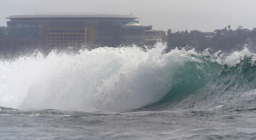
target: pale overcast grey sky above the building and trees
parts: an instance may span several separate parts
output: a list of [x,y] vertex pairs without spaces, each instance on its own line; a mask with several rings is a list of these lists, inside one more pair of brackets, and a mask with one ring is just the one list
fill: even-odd
[[256,0],[0,0],[0,26],[9,15],[35,13],[133,13],[142,25],[175,32],[256,27]]

